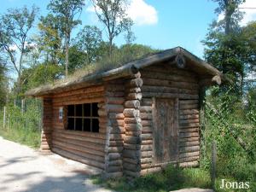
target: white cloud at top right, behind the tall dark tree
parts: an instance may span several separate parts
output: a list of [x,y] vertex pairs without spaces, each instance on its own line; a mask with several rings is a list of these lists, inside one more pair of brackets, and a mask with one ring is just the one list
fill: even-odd
[[[242,3],[240,8],[256,8],[255,0],[247,0],[245,3]],[[247,25],[248,22],[256,20],[256,9],[240,9],[244,12],[243,19],[241,20],[241,26]],[[218,15],[218,21],[224,19],[224,13]]]

